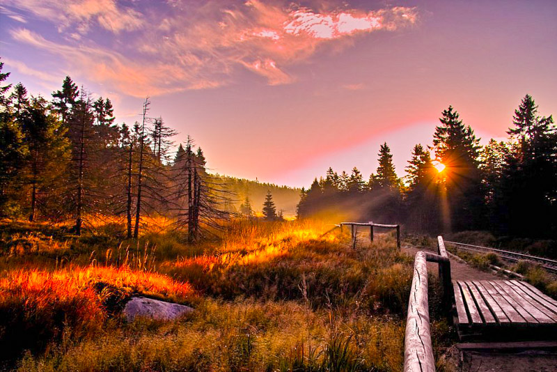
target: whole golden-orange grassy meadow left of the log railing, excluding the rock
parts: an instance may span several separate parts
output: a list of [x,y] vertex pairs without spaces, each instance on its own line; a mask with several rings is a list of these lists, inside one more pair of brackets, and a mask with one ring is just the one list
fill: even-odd
[[[352,248],[317,222],[230,222],[187,245],[157,222],[1,222],[0,360],[19,371],[400,371],[413,258],[393,235]],[[167,226],[167,225],[166,225]],[[430,301],[434,334],[446,322]],[[132,295],[188,304],[126,323]]]

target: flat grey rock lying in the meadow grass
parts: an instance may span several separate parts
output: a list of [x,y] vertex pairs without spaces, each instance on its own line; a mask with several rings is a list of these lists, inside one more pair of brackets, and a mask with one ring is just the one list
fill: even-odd
[[126,320],[132,322],[138,316],[157,320],[173,320],[191,311],[194,309],[173,302],[153,300],[147,297],[132,297],[124,307],[123,313]]

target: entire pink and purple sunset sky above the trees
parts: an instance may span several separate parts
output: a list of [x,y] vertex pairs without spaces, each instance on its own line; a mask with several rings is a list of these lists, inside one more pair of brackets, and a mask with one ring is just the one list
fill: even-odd
[[2,0],[8,82],[45,97],[66,75],[118,123],[162,116],[214,172],[311,185],[399,176],[453,105],[483,143],[529,93],[557,115],[557,1]]

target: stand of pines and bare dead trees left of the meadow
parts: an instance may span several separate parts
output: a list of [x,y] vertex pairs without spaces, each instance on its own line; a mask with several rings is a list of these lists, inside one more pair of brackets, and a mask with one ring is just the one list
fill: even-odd
[[229,192],[205,171],[201,148],[188,139],[173,157],[175,131],[149,116],[148,99],[129,127],[70,77],[50,101],[10,88],[0,85],[0,217],[72,220],[77,235],[116,217],[128,238],[146,217],[173,217],[190,241],[228,217]]

